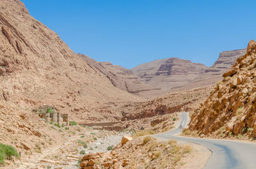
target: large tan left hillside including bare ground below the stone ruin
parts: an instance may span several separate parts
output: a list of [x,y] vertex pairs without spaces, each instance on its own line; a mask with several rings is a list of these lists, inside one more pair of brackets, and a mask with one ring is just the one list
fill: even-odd
[[[69,120],[116,121],[109,101],[139,97],[114,87],[17,0],[0,1],[0,142],[30,155],[65,142],[31,110],[52,105]],[[72,132],[72,131],[70,131]],[[38,143],[44,143],[38,148]],[[37,149],[38,148],[38,149]]]

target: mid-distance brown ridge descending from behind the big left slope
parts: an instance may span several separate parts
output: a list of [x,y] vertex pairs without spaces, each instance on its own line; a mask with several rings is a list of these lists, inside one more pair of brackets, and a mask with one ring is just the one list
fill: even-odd
[[119,89],[140,95],[140,92],[159,90],[145,83],[141,77],[134,75],[131,70],[127,70],[122,66],[113,65],[111,62],[97,62],[87,55],[78,54],[82,57],[93,70],[103,73],[109,81]]

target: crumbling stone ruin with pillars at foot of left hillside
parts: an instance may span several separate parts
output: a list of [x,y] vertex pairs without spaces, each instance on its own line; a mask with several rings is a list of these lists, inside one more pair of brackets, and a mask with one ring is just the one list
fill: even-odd
[[55,107],[44,105],[36,109],[35,112],[46,122],[58,123],[60,126],[68,126],[68,114],[57,112]]

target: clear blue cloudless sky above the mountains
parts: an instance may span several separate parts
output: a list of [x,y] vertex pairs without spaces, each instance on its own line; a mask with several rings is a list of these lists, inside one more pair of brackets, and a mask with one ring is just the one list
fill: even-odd
[[211,66],[256,33],[253,0],[22,1],[74,52],[125,68],[167,57]]

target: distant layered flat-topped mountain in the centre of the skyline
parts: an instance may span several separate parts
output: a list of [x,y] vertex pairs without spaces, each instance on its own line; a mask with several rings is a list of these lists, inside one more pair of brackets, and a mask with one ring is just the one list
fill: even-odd
[[206,69],[204,64],[172,57],[140,64],[132,68],[132,72],[143,78],[147,84],[168,91],[188,84]]

